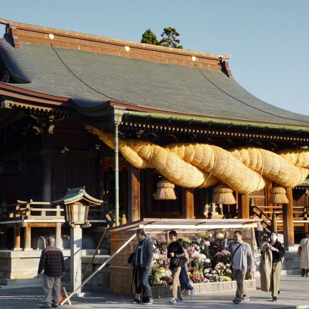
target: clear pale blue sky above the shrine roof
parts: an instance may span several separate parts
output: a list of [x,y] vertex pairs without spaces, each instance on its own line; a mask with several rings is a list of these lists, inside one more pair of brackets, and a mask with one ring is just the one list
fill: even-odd
[[[231,54],[235,80],[259,99],[309,115],[308,0],[14,0],[1,18],[140,42],[151,28],[185,49]],[[0,30],[4,33],[4,27]]]

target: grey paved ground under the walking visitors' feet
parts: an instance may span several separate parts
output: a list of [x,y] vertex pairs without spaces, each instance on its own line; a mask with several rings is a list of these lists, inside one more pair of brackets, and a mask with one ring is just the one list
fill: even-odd
[[[259,290],[259,282],[256,283],[257,290],[250,291],[251,300],[246,303],[236,305],[232,303],[234,293],[215,293],[197,295],[194,298],[189,296],[183,302],[170,304],[169,298],[156,298],[152,305],[133,305],[131,298],[124,296],[114,296],[109,293],[99,293],[92,290],[89,296],[82,298],[72,297],[72,307],[76,309],[91,308],[241,308],[260,309],[260,308],[309,308],[309,277],[282,276],[281,293],[276,303],[272,303],[271,293],[264,293]],[[88,294],[86,294],[88,295]],[[41,287],[18,287],[0,288],[0,308],[1,309],[30,309],[38,308],[41,301]],[[64,306],[63,308],[66,308]],[[67,307],[68,308],[68,307]]]

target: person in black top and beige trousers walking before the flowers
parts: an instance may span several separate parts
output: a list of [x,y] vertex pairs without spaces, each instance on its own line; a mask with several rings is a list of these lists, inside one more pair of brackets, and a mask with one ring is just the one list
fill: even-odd
[[177,240],[177,232],[170,231],[168,233],[170,244],[168,245],[168,259],[170,259],[170,271],[173,277],[173,297],[170,298],[170,303],[176,303],[183,300],[180,289],[180,272],[185,265],[185,251],[183,246]]

